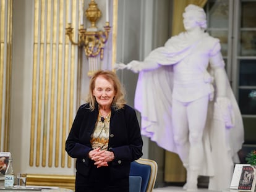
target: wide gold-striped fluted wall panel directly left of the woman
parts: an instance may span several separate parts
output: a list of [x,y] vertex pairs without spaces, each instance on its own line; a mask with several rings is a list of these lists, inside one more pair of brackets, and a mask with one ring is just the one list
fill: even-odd
[[65,20],[76,3],[35,0],[30,166],[71,167],[65,141],[77,110],[78,62]]

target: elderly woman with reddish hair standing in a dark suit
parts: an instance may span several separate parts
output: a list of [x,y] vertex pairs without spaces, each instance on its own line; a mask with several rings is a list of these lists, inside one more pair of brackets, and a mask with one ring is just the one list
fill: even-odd
[[90,80],[66,140],[77,158],[75,191],[129,192],[130,162],[142,156],[140,127],[116,73],[100,70]]

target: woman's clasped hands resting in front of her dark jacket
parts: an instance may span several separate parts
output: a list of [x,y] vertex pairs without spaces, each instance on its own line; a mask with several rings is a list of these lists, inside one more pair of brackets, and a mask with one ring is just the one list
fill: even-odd
[[101,150],[101,148],[93,149],[88,154],[89,158],[95,161],[97,168],[108,166],[108,162],[113,161],[114,152]]

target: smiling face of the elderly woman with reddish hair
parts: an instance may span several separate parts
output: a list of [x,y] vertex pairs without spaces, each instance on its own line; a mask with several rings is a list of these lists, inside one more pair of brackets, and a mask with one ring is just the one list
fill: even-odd
[[106,80],[101,75],[96,78],[93,96],[95,96],[100,107],[110,108],[115,94],[116,91],[112,81]]

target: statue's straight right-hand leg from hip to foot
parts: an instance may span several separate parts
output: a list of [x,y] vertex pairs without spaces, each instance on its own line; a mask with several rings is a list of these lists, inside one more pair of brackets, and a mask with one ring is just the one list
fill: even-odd
[[189,169],[187,190],[197,190],[197,178],[203,161],[203,129],[207,119],[208,96],[197,99],[187,106],[189,120]]

